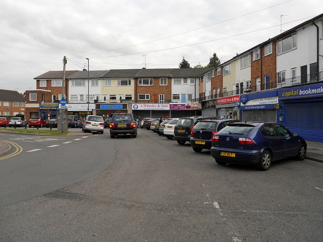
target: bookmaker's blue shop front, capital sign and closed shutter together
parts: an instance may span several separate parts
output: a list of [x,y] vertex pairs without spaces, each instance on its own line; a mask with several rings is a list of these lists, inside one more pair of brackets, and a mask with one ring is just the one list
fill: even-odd
[[280,123],[309,141],[323,142],[323,83],[278,90]]

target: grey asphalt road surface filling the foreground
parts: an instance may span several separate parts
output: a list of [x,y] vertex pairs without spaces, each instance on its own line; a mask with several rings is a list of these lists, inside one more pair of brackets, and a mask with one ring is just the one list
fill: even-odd
[[[209,151],[195,153],[188,143],[181,146],[148,130],[139,130],[135,139],[110,139],[109,132],[82,138],[66,144],[59,157],[55,149],[63,147],[48,147],[56,142],[42,142],[38,154],[29,152],[33,159],[26,159],[26,151],[36,145],[17,143],[23,151],[0,160],[1,176],[45,172],[44,180],[54,175],[53,186],[42,196],[0,207],[0,241],[294,242],[323,237],[323,163],[288,159],[268,171],[221,166]],[[73,155],[70,163],[56,163]],[[4,166],[9,166],[5,172]],[[74,179],[62,184],[71,172]],[[14,180],[1,178],[1,184]],[[33,189],[36,184],[28,192]]]

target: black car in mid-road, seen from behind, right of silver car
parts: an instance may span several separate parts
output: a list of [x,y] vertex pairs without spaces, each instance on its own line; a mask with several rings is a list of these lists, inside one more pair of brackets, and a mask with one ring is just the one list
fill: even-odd
[[137,137],[137,125],[132,113],[114,113],[110,123],[110,137],[117,135],[130,134],[133,138]]

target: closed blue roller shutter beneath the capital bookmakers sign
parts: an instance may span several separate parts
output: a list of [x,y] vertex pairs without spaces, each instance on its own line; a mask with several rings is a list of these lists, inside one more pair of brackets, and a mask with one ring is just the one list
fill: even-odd
[[285,126],[306,140],[323,142],[323,102],[285,103]]

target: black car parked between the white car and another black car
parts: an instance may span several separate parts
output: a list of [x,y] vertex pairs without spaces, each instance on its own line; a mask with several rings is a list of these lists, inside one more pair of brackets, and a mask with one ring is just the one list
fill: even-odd
[[189,142],[194,125],[196,125],[201,120],[210,118],[216,119],[216,117],[213,116],[181,117],[180,119],[178,119],[174,129],[174,140],[176,140],[180,145],[184,145],[186,141]]

